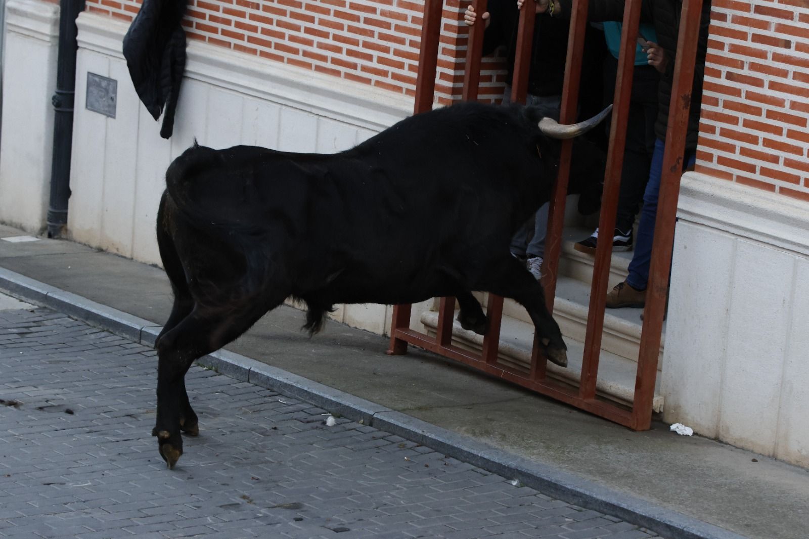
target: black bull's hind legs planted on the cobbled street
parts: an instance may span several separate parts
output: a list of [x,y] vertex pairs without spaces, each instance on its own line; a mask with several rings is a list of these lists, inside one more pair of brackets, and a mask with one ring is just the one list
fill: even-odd
[[[185,373],[193,361],[233,341],[281,301],[267,306],[260,298],[228,305],[227,308],[194,308],[184,320],[167,331],[156,345],[158,350],[157,420],[152,435],[157,436],[160,456],[174,468],[183,454],[180,430],[197,431],[196,418],[185,392]],[[188,413],[190,410],[190,416]],[[193,424],[189,420],[193,417]]]

